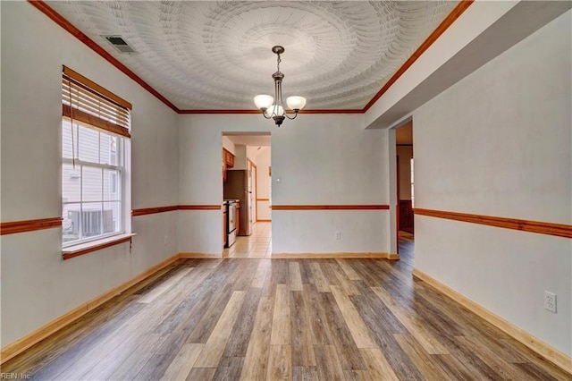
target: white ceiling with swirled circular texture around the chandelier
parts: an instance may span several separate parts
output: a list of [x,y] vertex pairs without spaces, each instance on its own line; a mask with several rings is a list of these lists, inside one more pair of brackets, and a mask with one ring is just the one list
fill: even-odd
[[[180,109],[254,109],[273,95],[307,109],[361,109],[452,11],[450,1],[47,2]],[[120,35],[121,54],[102,36]]]

